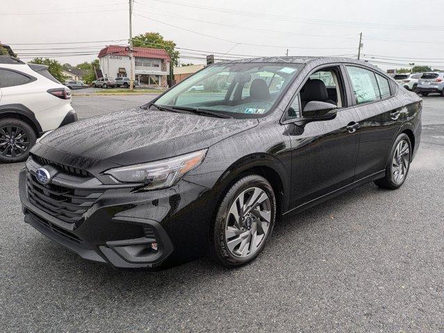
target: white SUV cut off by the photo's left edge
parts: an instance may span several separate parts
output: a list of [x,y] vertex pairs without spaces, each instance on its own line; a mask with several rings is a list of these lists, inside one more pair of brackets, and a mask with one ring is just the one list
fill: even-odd
[[0,162],[26,160],[38,137],[76,120],[71,91],[47,66],[0,56]]

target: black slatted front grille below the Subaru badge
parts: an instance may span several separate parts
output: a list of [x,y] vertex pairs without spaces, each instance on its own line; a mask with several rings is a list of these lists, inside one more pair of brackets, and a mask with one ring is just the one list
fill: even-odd
[[97,189],[73,189],[55,184],[42,185],[28,172],[26,185],[29,201],[57,219],[68,223],[79,221],[101,196]]

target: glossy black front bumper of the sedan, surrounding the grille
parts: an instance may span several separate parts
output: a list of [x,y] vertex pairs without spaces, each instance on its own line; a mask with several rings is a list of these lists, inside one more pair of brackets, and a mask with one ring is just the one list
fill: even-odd
[[[174,189],[140,193],[130,188],[107,189],[78,222],[67,223],[35,203],[33,192],[28,192],[28,176],[38,165],[28,161],[27,167],[30,170],[25,168],[19,175],[24,221],[84,259],[117,268],[157,268],[195,257],[196,244],[202,248],[204,219],[190,209],[200,201],[202,187],[198,185],[179,182]],[[66,185],[68,179],[56,177],[52,182]],[[151,248],[154,243],[157,250]]]

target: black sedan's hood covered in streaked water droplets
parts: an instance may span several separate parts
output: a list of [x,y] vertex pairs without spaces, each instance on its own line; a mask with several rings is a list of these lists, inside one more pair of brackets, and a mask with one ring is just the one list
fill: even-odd
[[[208,148],[257,124],[257,119],[221,119],[132,108],[70,123],[45,136],[36,146],[129,165]],[[42,151],[41,148],[35,150]]]

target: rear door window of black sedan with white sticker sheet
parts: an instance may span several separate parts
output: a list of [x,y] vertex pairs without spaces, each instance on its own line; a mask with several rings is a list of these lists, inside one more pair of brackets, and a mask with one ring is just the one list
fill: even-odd
[[357,104],[381,99],[375,74],[361,67],[347,66]]

